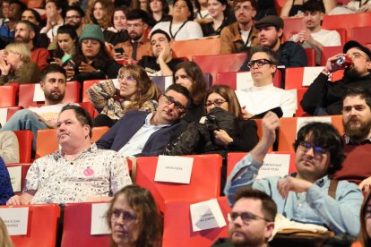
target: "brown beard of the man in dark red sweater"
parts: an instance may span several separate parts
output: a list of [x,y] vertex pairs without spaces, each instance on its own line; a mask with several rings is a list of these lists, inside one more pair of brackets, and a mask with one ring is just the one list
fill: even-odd
[[362,121],[357,116],[351,117],[347,123],[343,121],[342,124],[345,134],[355,141],[366,139],[371,130],[371,121]]

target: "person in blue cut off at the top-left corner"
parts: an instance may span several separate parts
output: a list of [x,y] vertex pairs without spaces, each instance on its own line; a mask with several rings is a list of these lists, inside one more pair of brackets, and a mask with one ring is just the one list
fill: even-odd
[[0,26],[0,49],[4,49],[8,44],[14,41],[14,29],[18,21],[21,21],[23,10],[27,8],[19,0],[10,1],[8,20]]

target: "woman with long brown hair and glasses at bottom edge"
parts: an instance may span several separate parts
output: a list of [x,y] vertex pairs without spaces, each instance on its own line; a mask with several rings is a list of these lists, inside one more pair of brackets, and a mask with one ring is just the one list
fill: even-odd
[[161,246],[159,219],[151,192],[135,185],[126,186],[116,192],[108,208],[110,246]]

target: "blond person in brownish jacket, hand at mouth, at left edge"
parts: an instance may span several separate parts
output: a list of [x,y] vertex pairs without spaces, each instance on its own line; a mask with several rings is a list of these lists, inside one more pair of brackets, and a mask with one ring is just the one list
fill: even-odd
[[0,57],[0,85],[27,84],[40,80],[38,65],[30,62],[30,48],[23,43],[11,43]]

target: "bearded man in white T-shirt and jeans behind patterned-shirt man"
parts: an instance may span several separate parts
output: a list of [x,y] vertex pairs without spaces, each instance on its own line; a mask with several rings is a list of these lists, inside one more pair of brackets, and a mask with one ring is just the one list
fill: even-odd
[[17,111],[1,131],[30,130],[33,133],[32,150],[36,150],[38,130],[56,128],[56,120],[65,98],[65,69],[57,64],[48,65],[42,72],[40,88],[44,91],[45,105]]

